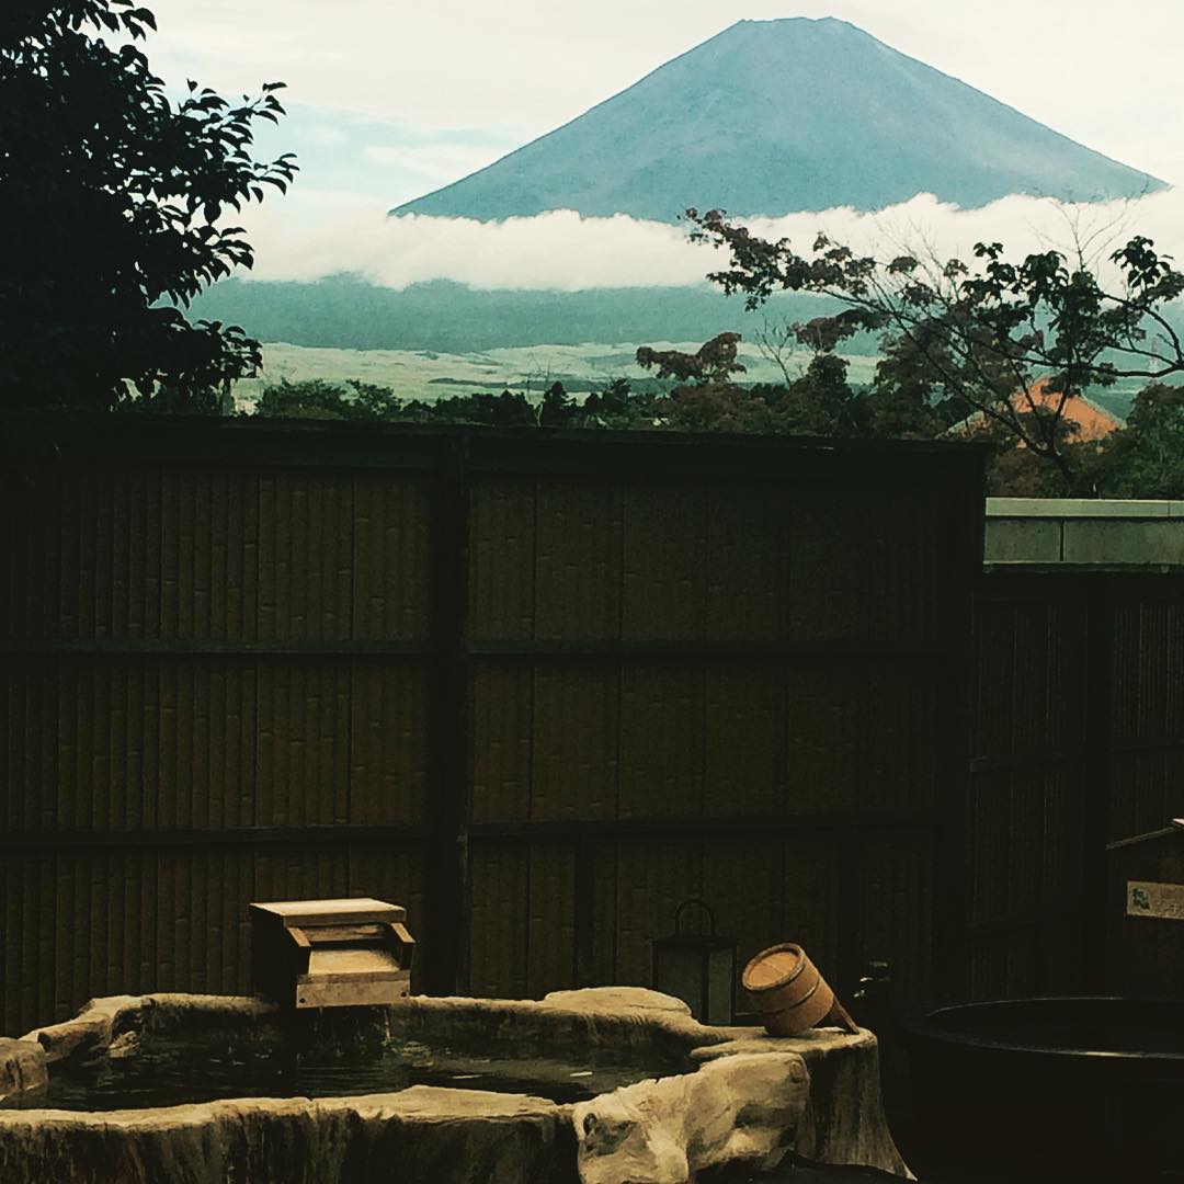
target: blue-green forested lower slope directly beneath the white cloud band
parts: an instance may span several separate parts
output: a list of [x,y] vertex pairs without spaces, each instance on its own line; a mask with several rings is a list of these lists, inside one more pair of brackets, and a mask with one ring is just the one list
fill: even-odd
[[[701,288],[538,291],[469,288],[446,279],[380,288],[342,275],[315,283],[226,279],[201,292],[194,317],[240,324],[259,341],[337,349],[431,349],[449,354],[584,342],[707,341],[734,329],[757,341],[766,322],[834,313],[824,297],[783,295],[749,313],[740,297]],[[863,335],[844,353],[875,354]]]

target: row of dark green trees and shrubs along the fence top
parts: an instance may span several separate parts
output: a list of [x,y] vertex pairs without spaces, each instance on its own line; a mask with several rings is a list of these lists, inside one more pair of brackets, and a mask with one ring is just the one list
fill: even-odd
[[[694,371],[663,352],[671,373]],[[684,432],[757,432],[866,439],[933,439],[986,443],[987,493],[1012,497],[1184,498],[1184,388],[1152,385],[1135,399],[1124,430],[1103,440],[1080,440],[1068,419],[1057,446],[1070,461],[1070,478],[1034,450],[1017,444],[997,420],[978,417],[965,426],[959,400],[934,401],[907,361],[889,354],[867,388],[851,387],[847,363],[818,354],[784,384],[738,386],[721,380],[677,384],[655,394],[613,379],[583,401],[553,382],[541,401],[521,392],[463,394],[435,401],[401,399],[388,387],[318,379],[269,385],[252,414],[266,418],[336,419],[356,424],[477,424],[490,427],[616,429]],[[950,435],[951,425],[963,425]],[[1031,429],[1035,431],[1035,429]]]

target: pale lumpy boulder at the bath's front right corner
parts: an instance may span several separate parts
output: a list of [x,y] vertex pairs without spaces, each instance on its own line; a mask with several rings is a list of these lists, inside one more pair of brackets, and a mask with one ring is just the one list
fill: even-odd
[[773,1167],[796,1144],[807,1077],[793,1053],[740,1054],[580,1102],[580,1180],[687,1184],[721,1164]]

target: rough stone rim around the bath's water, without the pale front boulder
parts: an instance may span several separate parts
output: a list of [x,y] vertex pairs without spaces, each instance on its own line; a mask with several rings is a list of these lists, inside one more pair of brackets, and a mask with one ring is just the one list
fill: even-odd
[[[496,1034],[501,1040],[547,1038],[597,1040],[633,1053],[652,1053],[667,1064],[682,1062],[674,1072],[659,1072],[642,1086],[671,1076],[701,1072],[723,1058],[754,1054],[786,1054],[800,1057],[809,1074],[804,1112],[792,1132],[799,1154],[829,1163],[867,1163],[908,1177],[883,1118],[879,1090],[877,1044],[871,1032],[847,1034],[813,1029],[798,1037],[770,1037],[759,1028],[712,1028],[690,1017],[681,1000],[639,987],[593,987],[555,992],[541,1000],[474,999],[465,997],[411,996],[385,1009],[391,1022],[405,1030],[438,1025],[442,1021],[475,1038]],[[128,1034],[161,1025],[217,1021],[239,1025],[278,1022],[281,1009],[263,999],[236,996],[155,993],[111,996],[91,1000],[72,1019],[27,1032],[19,1041],[24,1062],[38,1061],[52,1072],[54,1063],[75,1056],[92,1056],[118,1047]],[[30,1056],[30,1053],[32,1055]],[[740,1062],[735,1062],[739,1064]],[[0,1067],[4,1054],[0,1051]],[[826,1072],[816,1069],[826,1064]],[[28,1076],[36,1082],[37,1073]],[[44,1077],[41,1080],[44,1087]],[[33,1089],[38,1088],[34,1083]],[[637,1086],[624,1087],[637,1090]],[[614,1093],[619,1093],[616,1090]],[[452,1096],[455,1095],[455,1096]],[[607,1095],[601,1094],[599,1098]],[[593,1099],[596,1101],[597,1099]],[[580,1103],[586,1105],[586,1103]],[[52,1111],[24,1108],[0,1112],[0,1163],[5,1145],[18,1132],[37,1139],[57,1131],[85,1132],[108,1138],[118,1131],[149,1128],[193,1131],[202,1124],[251,1124],[289,1119],[302,1124],[324,1122],[366,1127],[368,1124],[443,1122],[465,1113],[477,1121],[517,1124],[530,1139],[573,1143],[577,1134],[573,1109],[528,1094],[455,1090],[440,1086],[412,1086],[392,1093],[352,1094],[341,1098],[234,1098],[191,1102],[153,1109]],[[521,1133],[521,1132],[520,1132]],[[790,1144],[783,1148],[787,1150]]]

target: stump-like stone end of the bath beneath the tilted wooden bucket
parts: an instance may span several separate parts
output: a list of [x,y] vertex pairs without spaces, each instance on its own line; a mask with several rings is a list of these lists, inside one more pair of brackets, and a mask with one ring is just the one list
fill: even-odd
[[811,1028],[800,1036],[768,1036],[762,1028],[733,1028],[733,1038],[704,1045],[691,1060],[794,1053],[810,1070],[810,1099],[794,1151],[826,1164],[864,1164],[912,1179],[888,1128],[880,1093],[880,1048],[866,1029]]

